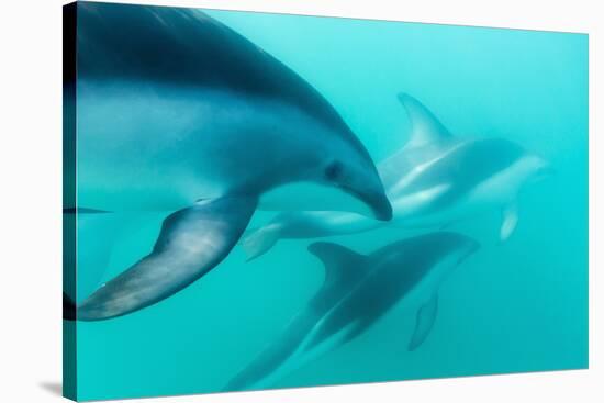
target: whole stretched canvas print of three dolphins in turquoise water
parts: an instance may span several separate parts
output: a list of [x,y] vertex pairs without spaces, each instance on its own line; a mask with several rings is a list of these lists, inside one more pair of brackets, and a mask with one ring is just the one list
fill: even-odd
[[588,367],[588,35],[64,8],[64,393]]

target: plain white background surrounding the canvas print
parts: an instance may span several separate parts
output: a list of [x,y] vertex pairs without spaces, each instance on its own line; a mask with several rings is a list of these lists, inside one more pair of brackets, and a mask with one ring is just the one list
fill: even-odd
[[[141,2],[590,33],[590,370],[166,398],[157,402],[602,401],[602,396],[596,398],[604,382],[599,295],[604,290],[601,281],[604,277],[599,273],[603,269],[599,250],[603,247],[603,214],[597,209],[604,205],[600,187],[603,91],[599,75],[603,69],[604,13],[599,10],[599,1]],[[4,1],[0,14],[0,402],[63,399],[61,3],[60,0]],[[551,217],[551,231],[556,231],[556,217]],[[199,366],[202,371],[204,363]]]

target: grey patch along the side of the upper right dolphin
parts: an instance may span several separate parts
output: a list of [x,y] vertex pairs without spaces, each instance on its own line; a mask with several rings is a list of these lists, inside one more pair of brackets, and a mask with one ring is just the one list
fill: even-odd
[[510,167],[523,155],[521,146],[503,138],[467,143],[417,176],[404,193],[413,193],[450,181],[450,189],[427,204],[422,212],[440,209],[466,195],[482,180]]

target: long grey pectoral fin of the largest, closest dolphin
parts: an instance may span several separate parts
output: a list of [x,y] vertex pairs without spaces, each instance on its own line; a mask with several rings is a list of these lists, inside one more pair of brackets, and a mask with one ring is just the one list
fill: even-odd
[[164,221],[153,251],[86,299],[77,318],[121,316],[189,286],[228,255],[256,204],[256,198],[225,197],[172,213]]

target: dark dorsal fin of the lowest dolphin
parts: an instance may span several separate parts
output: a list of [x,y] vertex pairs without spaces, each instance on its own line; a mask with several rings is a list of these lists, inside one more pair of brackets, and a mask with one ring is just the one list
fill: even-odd
[[326,284],[343,279],[357,278],[356,275],[362,271],[367,258],[365,255],[357,254],[345,246],[329,242],[311,244],[309,251],[323,261]]

